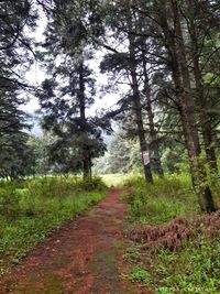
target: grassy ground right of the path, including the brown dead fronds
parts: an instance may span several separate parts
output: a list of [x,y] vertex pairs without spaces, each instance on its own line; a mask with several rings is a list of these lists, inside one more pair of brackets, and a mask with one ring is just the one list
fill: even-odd
[[[220,214],[198,216],[189,176],[157,178],[154,186],[132,177],[127,186],[132,241],[123,275],[158,294],[220,293]],[[217,203],[219,190],[216,182]]]

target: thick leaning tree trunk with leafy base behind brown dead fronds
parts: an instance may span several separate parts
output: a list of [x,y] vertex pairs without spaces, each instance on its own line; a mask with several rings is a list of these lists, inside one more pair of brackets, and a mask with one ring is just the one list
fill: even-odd
[[179,19],[178,3],[176,1],[173,1],[173,12],[175,19],[174,28],[176,32],[175,44],[176,44],[177,62],[179,65],[179,73],[183,83],[180,105],[183,110],[182,120],[183,120],[185,140],[186,140],[186,145],[188,148],[194,185],[199,199],[200,208],[202,211],[211,213],[215,211],[216,208],[211,196],[210,187],[207,183],[207,175],[199,159],[201,150],[200,150],[199,135],[195,116],[196,105],[191,97],[190,77],[187,67],[187,58],[186,58],[185,44]]

